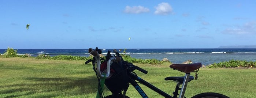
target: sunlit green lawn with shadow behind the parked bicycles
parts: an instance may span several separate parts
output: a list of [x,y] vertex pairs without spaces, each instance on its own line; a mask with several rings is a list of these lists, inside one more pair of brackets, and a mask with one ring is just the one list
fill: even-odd
[[[0,56],[0,98],[95,98],[97,79],[92,65],[84,62]],[[147,75],[136,71],[138,76],[168,94],[172,94],[176,83],[164,78],[184,75],[170,69],[170,63],[137,65],[148,70]],[[222,93],[231,98],[256,96],[256,68],[200,68],[198,73],[199,79],[188,83],[187,98],[203,92]],[[162,97],[141,87],[149,98]],[[105,88],[104,94],[111,93]],[[131,85],[126,95],[141,98]]]

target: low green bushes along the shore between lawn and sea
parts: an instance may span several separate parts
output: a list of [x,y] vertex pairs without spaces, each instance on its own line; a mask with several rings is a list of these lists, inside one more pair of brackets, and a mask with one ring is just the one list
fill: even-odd
[[[17,49],[13,49],[13,48],[9,48],[7,50],[5,50],[3,57],[7,58],[7,57],[31,57],[29,55],[18,55],[17,53]],[[170,61],[160,61],[157,59],[136,59],[131,57],[130,55],[126,55],[126,54],[121,54],[123,57],[123,60],[131,62],[131,63],[140,63],[140,64],[161,64],[163,62],[169,62]],[[83,57],[83,56],[71,56],[71,55],[58,55],[58,56],[50,56],[50,55],[45,55],[45,54],[41,54],[38,55],[36,57],[34,57],[36,59],[50,59],[50,60],[89,60],[89,59],[93,59],[92,56],[89,57]],[[230,67],[256,67],[256,61],[245,61],[245,60],[230,60],[230,61],[222,61],[220,63],[214,63],[214,64],[210,64],[207,65],[207,68],[217,68],[217,67],[221,67],[221,68],[230,68]]]

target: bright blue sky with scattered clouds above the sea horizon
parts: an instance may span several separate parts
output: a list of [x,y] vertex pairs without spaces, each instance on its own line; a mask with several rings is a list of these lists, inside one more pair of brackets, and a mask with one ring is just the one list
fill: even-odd
[[0,49],[218,48],[255,39],[256,0],[0,0]]

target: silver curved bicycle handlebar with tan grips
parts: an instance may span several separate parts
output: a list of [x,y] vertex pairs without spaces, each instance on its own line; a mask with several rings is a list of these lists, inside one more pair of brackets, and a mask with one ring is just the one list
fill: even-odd
[[104,74],[101,74],[101,71],[100,71],[100,55],[99,55],[99,53],[96,50],[93,50],[92,48],[89,48],[88,52],[90,54],[92,54],[94,57],[96,57],[97,73],[100,76],[100,78],[103,78],[103,77],[105,77],[106,79],[109,78],[109,76],[110,76],[110,65],[113,63],[113,61],[121,61],[120,57],[111,56],[110,59],[107,62],[107,72],[106,72],[106,75],[104,75]]

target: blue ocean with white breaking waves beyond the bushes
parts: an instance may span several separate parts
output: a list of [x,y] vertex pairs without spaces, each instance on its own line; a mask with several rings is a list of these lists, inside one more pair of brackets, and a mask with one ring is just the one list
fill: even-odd
[[[6,49],[0,49],[3,54]],[[86,56],[88,49],[17,49],[18,54],[30,54],[37,56],[40,54],[49,54],[50,56],[56,55],[72,55],[72,56]],[[102,49],[103,54],[107,54],[108,50]],[[119,50],[119,49],[116,49]],[[123,51],[123,49],[122,49]],[[122,53],[120,51],[120,53]],[[246,60],[256,61],[256,49],[230,49],[230,48],[214,48],[214,49],[127,49],[126,54],[137,59],[158,59],[162,60],[167,58],[172,63],[183,63],[184,61],[191,60],[193,63],[200,62],[204,65],[219,63],[221,61],[229,60]]]

